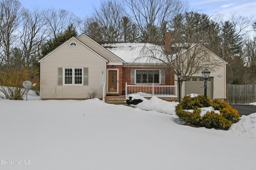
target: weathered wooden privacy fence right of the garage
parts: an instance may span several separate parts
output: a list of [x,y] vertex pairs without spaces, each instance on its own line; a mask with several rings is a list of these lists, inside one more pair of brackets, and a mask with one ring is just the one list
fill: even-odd
[[229,104],[249,104],[256,102],[256,84],[227,84],[227,102]]

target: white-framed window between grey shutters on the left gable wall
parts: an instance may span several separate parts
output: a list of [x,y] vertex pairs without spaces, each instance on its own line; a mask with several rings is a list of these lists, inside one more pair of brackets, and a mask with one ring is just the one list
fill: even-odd
[[83,68],[64,68],[64,84],[82,85]]

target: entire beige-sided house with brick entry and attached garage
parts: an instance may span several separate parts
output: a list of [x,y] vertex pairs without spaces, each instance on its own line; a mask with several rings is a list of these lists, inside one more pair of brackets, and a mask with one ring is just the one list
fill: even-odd
[[[165,75],[166,67],[147,63],[133,63],[131,44],[103,47],[84,33],[58,46],[40,63],[40,97],[48,99],[84,100],[96,93],[96,98],[124,96],[142,92],[151,96],[177,96],[177,78]],[[133,44],[134,45],[134,44]],[[131,49],[127,49],[131,47]],[[124,50],[124,51],[122,51]],[[208,95],[226,99],[226,62],[209,53],[221,64],[210,73]],[[209,62],[209,61],[205,61]],[[174,77],[174,79],[172,78]],[[202,73],[198,72],[182,84],[182,96],[204,94]],[[128,92],[130,90],[130,92]]]

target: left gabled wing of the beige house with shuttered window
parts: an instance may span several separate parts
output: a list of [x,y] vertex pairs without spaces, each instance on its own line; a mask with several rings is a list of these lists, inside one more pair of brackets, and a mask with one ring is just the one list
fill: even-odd
[[39,63],[42,100],[82,100],[89,98],[90,93],[95,91],[96,98],[103,98],[105,94],[102,88],[110,71],[116,73],[117,85],[113,93],[118,93],[118,68],[112,66],[122,66],[124,61],[82,34],[64,42]]

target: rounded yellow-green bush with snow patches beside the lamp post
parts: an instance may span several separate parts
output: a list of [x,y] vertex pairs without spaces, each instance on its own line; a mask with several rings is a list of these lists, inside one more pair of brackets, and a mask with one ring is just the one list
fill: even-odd
[[[206,103],[206,106],[204,106]],[[227,102],[210,100],[204,95],[185,96],[176,106],[176,115],[181,121],[207,128],[228,129],[239,121],[240,115]]]

